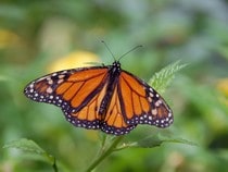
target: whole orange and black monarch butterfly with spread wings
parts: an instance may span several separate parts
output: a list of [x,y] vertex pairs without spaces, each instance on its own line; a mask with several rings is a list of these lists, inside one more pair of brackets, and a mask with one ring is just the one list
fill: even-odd
[[122,70],[121,58],[112,65],[45,75],[30,82],[24,94],[34,101],[60,107],[75,126],[106,134],[124,135],[137,124],[169,126],[173,113],[168,105],[145,82]]

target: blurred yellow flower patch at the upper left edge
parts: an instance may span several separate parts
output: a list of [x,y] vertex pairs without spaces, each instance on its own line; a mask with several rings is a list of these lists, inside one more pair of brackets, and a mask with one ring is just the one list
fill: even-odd
[[0,48],[7,48],[17,44],[18,40],[20,37],[15,33],[7,29],[0,29]]

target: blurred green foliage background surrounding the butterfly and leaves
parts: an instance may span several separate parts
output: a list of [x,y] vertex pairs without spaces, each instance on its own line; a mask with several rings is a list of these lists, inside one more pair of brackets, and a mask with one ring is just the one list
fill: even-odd
[[99,132],[74,127],[59,108],[30,101],[23,89],[72,52],[92,52],[112,63],[102,39],[116,57],[142,45],[122,64],[145,81],[172,62],[188,63],[163,93],[174,124],[138,126],[125,142],[168,133],[198,146],[129,148],[109,157],[98,171],[228,171],[227,0],[1,0],[0,171],[52,171],[33,156],[2,149],[24,137],[68,171],[85,169],[96,157]]

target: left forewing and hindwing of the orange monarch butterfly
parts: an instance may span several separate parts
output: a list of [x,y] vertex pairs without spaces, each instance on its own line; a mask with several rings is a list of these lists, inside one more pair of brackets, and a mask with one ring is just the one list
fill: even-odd
[[46,75],[28,84],[25,95],[61,107],[76,126],[100,128],[98,110],[106,89],[107,67],[83,67]]

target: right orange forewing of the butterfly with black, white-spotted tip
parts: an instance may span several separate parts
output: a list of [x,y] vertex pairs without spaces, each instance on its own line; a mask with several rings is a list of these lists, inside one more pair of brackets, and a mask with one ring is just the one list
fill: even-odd
[[122,113],[127,124],[151,124],[167,127],[173,113],[165,100],[147,83],[123,71],[119,76]]

